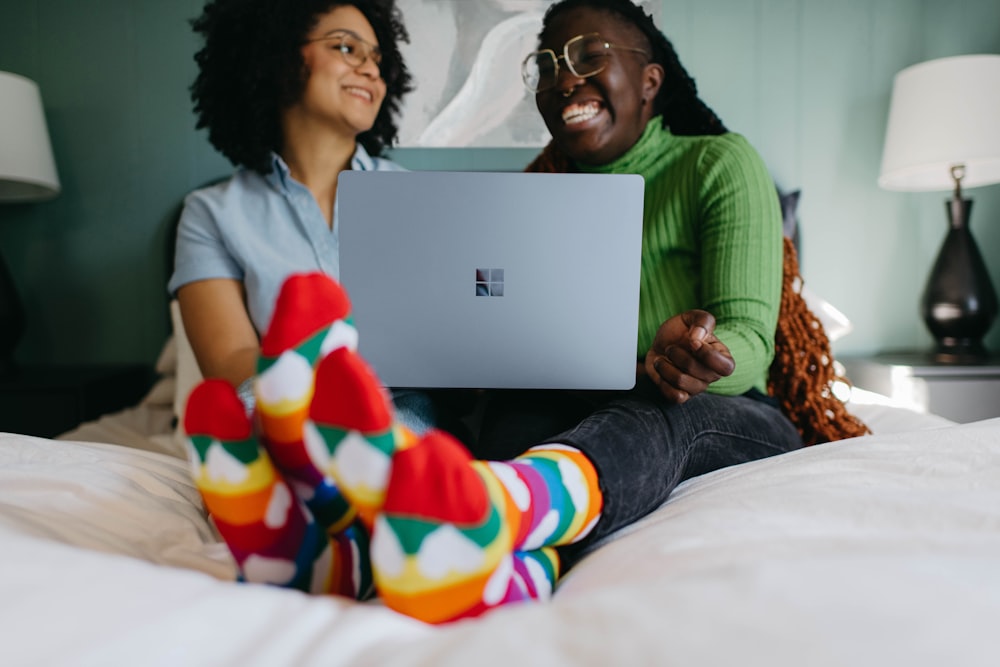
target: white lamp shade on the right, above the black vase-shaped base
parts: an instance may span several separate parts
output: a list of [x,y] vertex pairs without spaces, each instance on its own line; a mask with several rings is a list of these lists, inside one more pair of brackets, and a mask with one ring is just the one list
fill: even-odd
[[1000,55],[930,60],[893,82],[879,186],[951,190],[1000,183]]

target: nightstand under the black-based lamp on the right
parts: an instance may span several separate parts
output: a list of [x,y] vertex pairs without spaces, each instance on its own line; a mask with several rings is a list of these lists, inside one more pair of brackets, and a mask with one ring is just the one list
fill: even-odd
[[921,352],[838,358],[861,389],[957,422],[1000,417],[1000,356],[948,364]]

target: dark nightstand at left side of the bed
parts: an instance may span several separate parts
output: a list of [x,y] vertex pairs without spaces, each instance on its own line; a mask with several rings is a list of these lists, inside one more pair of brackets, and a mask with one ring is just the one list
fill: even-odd
[[0,376],[0,432],[54,437],[135,405],[154,379],[144,364],[18,366]]

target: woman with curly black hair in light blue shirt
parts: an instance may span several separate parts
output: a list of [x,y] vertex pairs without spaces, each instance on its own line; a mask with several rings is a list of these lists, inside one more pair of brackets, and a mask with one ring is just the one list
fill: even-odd
[[[202,374],[241,387],[248,406],[285,278],[338,277],[338,175],[402,169],[379,156],[412,89],[391,4],[275,6],[212,2],[193,24],[205,38],[191,88],[198,127],[237,171],[188,195],[168,285]],[[423,395],[396,398],[401,420],[426,425]]]

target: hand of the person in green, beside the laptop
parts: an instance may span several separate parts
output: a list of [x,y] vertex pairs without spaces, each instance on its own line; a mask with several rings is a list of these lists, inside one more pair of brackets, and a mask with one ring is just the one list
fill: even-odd
[[689,310],[660,325],[643,370],[671,403],[684,403],[736,368],[729,348],[715,337],[715,317]]

